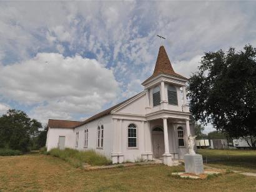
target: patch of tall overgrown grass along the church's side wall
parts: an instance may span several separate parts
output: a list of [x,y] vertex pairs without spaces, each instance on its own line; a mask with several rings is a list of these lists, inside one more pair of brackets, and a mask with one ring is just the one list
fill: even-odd
[[49,151],[49,154],[61,158],[75,167],[81,167],[83,163],[90,165],[110,165],[112,163],[106,156],[96,153],[94,150],[78,151],[71,148],[65,150],[54,148]]

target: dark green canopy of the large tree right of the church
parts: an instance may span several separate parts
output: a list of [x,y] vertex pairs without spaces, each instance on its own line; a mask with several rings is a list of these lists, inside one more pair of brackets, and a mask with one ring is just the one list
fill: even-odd
[[208,52],[189,79],[190,111],[229,137],[256,141],[256,49]]

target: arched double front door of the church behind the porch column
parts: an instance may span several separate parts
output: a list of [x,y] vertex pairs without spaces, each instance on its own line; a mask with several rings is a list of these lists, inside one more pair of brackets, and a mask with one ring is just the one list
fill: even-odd
[[154,128],[152,131],[153,156],[160,158],[164,154],[164,131],[162,128]]

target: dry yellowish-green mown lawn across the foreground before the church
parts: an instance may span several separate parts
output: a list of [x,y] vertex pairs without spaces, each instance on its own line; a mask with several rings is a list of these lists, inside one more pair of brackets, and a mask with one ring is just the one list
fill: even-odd
[[256,178],[229,173],[209,180],[170,175],[184,166],[81,170],[49,155],[0,157],[0,191],[255,191]]

